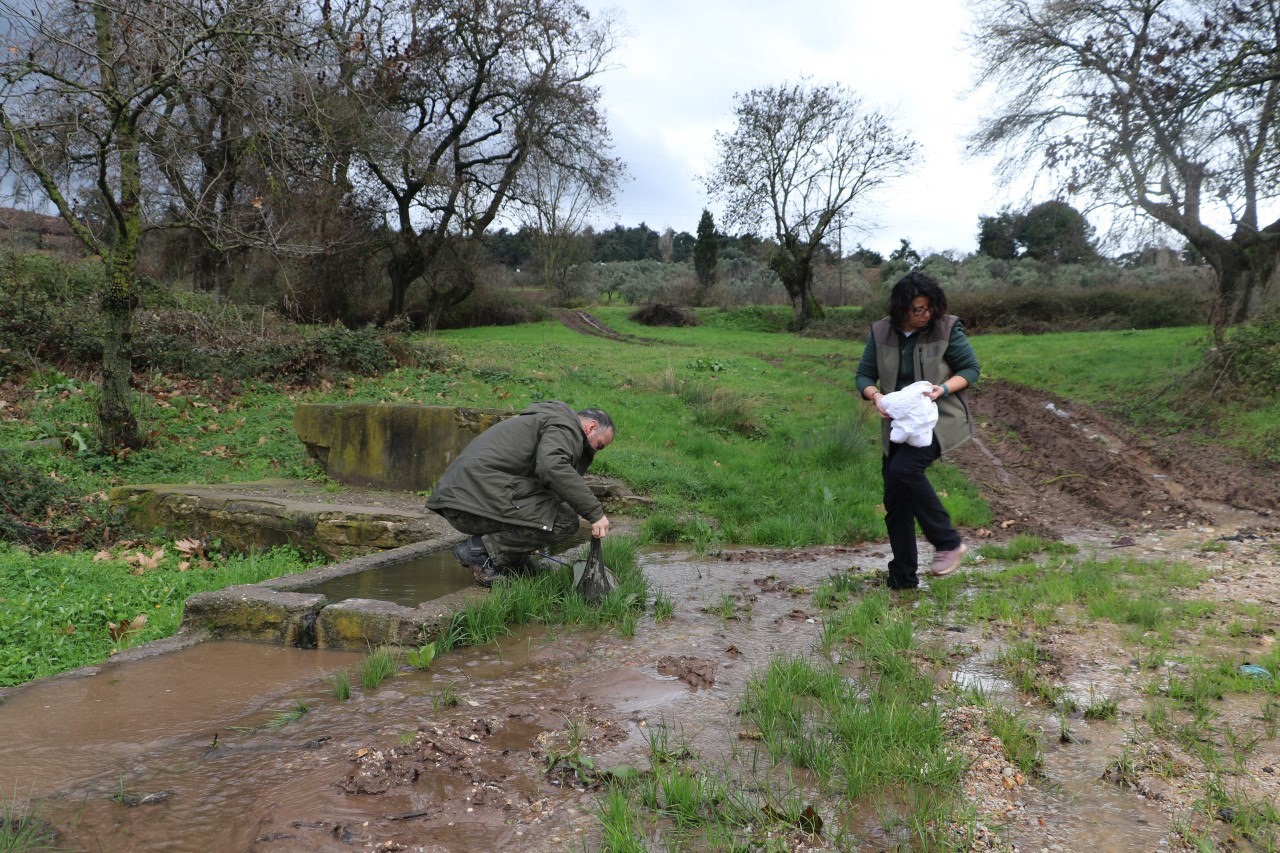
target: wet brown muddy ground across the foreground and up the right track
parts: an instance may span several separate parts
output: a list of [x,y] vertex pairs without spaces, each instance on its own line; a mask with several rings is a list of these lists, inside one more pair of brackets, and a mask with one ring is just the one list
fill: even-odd
[[[984,384],[973,409],[978,441],[954,461],[982,485],[995,524],[966,530],[972,543],[1036,533],[1085,553],[1172,557],[1212,570],[1213,579],[1196,593],[1201,598],[1280,605],[1275,471],[1178,439],[1143,442],[1097,412],[1007,384]],[[35,793],[47,795],[72,849],[598,849],[593,809],[602,784],[594,771],[644,768],[655,730],[668,733],[672,745],[687,744],[707,767],[749,761],[755,744],[740,730],[736,708],[753,669],[780,653],[813,651],[820,613],[808,590],[837,571],[877,587],[886,560],[886,548],[876,544],[704,557],[650,552],[645,570],[677,602],[676,615],[662,624],[644,620],[634,638],[527,630],[494,647],[451,653],[425,672],[402,671],[347,703],[326,695],[319,675],[289,681],[264,671],[243,688],[259,692],[252,702],[207,715],[175,706],[166,716],[156,697],[209,689],[210,671],[225,681],[224,692],[236,693],[237,670],[248,671],[242,649],[225,652],[220,663],[220,644],[205,643],[182,653],[214,660],[198,667],[191,658],[155,662],[151,676],[136,665],[131,678],[141,680],[127,694],[93,699],[131,721],[104,724],[102,743],[70,748],[65,729],[60,735],[50,717],[27,744],[28,752],[49,751],[28,756],[29,777],[38,780]],[[913,596],[928,590],[904,596],[901,605],[910,607]],[[1183,847],[1175,830],[1202,795],[1203,774],[1171,744],[1126,744],[1146,707],[1147,679],[1116,631],[1088,625],[1041,638],[1055,678],[1082,706],[1093,692],[1119,704],[1116,721],[1075,715],[1071,744],[1055,736],[1060,720],[1052,710],[1010,693],[991,665],[1002,643],[1019,638],[965,626],[927,634],[922,643],[964,649],[954,671],[936,674],[940,684],[980,684],[1043,730],[1044,775],[1028,779],[1001,757],[980,712],[948,715],[972,760],[964,789],[982,827],[975,848]],[[1262,651],[1274,635],[1272,622],[1245,642]],[[127,681],[109,667],[102,675]],[[288,688],[266,686],[276,683]],[[55,685],[42,690],[19,694],[0,711],[31,720],[68,703]],[[456,704],[440,702],[448,692]],[[264,725],[294,697],[307,698],[312,712],[289,725]],[[1220,719],[1244,730],[1260,725],[1258,713],[1257,697],[1228,698]],[[148,725],[163,730],[145,734]],[[136,729],[128,743],[114,734],[119,727]],[[1135,776],[1125,784],[1105,779],[1126,745],[1138,756]],[[1171,765],[1183,772],[1155,771]],[[1277,776],[1275,740],[1225,775],[1233,790],[1272,804]],[[813,807],[828,821],[844,811],[820,795]],[[874,808],[849,820],[864,849],[910,849],[877,829]],[[1201,829],[1233,845],[1225,822]],[[792,850],[832,849],[829,834],[800,829],[781,831],[777,840]]]

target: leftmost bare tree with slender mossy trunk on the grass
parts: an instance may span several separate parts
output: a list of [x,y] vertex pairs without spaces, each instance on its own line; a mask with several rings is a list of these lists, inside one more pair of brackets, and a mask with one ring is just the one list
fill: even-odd
[[[106,447],[142,443],[131,391],[138,242],[161,219],[157,152],[148,141],[183,111],[210,68],[236,68],[230,47],[282,28],[269,0],[0,1],[0,138],[22,186],[40,187],[106,268],[100,293],[99,420]],[[232,41],[228,41],[228,40]],[[79,215],[100,211],[101,228]]]

